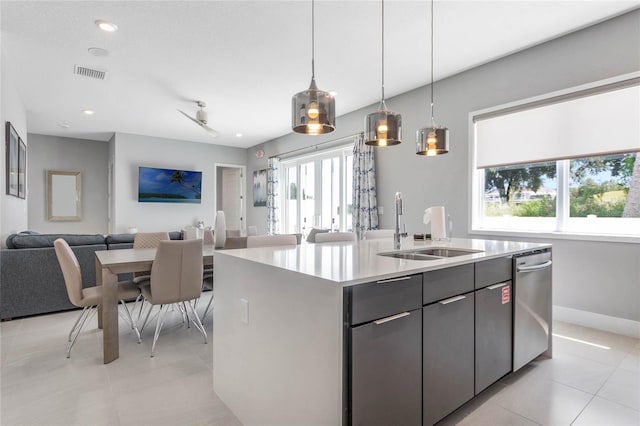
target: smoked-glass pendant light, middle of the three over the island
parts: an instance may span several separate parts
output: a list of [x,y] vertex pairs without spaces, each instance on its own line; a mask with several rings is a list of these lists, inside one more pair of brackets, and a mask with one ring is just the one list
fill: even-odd
[[364,143],[391,146],[402,143],[402,116],[389,111],[384,102],[384,0],[382,0],[382,100],[378,111],[364,119]]

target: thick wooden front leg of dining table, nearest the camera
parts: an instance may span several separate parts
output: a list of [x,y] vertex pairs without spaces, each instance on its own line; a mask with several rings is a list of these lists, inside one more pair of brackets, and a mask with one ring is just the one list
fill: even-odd
[[118,277],[108,269],[101,271],[102,276],[102,345],[104,363],[118,359],[120,342],[118,340]]

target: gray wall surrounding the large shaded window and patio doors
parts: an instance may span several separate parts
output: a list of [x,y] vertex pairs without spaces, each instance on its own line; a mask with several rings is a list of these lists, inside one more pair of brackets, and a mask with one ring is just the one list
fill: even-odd
[[[404,142],[377,150],[378,203],[386,213],[380,216],[380,226],[392,227],[389,213],[394,193],[401,191],[409,233],[424,229],[426,207],[444,205],[454,222],[453,235],[468,237],[470,112],[639,70],[640,11],[636,10],[438,81],[436,121],[451,131],[451,151],[441,157],[415,155],[414,132],[428,124],[428,87],[389,99],[387,106],[402,114]],[[264,169],[271,155],[361,132],[364,117],[375,108],[338,117],[338,130],[330,135],[289,134],[248,149],[247,173]],[[264,158],[256,159],[258,149],[264,149]],[[248,204],[247,213],[247,223],[266,232],[266,210]],[[555,244],[554,304],[640,321],[639,244],[549,241]],[[606,248],[604,256],[595,249],[600,246]]]

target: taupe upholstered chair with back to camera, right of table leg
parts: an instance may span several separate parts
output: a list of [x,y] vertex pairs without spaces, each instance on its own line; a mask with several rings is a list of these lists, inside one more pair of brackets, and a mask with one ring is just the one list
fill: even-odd
[[[143,284],[143,283],[141,283]],[[160,241],[156,257],[151,266],[148,284],[140,288],[142,295],[152,307],[160,305],[156,321],[156,332],[151,346],[154,356],[156,342],[164,323],[164,314],[168,305],[179,303],[184,309],[187,320],[193,321],[207,343],[207,332],[190,303],[200,297],[202,292],[202,241]],[[187,302],[187,303],[185,303]],[[189,316],[191,312],[191,317]],[[151,308],[147,312],[142,328],[149,320]]]

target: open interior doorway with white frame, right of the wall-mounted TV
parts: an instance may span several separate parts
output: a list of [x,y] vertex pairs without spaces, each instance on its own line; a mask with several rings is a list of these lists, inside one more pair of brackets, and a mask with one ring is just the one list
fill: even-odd
[[[227,230],[245,234],[245,166],[216,164],[216,208],[225,216]],[[215,217],[215,212],[214,212]]]

